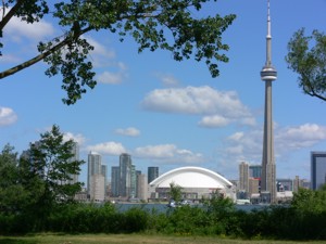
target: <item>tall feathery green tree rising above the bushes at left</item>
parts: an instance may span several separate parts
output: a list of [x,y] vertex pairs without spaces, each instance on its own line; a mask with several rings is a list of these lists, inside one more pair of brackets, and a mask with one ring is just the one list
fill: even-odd
[[40,137],[21,157],[21,181],[27,192],[33,192],[26,214],[33,213],[41,227],[55,206],[73,202],[80,191],[82,183],[72,182],[72,176],[80,172],[84,160],[74,159],[75,143],[64,141],[58,126]]

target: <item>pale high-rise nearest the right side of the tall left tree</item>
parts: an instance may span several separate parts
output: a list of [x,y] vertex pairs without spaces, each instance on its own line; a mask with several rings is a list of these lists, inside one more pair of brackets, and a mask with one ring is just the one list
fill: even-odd
[[88,154],[87,193],[92,201],[104,201],[105,176],[103,175],[102,157],[100,154]]

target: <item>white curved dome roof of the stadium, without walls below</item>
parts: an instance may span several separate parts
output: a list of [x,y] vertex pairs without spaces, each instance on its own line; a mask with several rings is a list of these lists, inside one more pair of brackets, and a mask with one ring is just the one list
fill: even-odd
[[227,189],[233,183],[221,175],[201,167],[181,167],[163,174],[150,187],[170,188],[170,183],[181,188]]

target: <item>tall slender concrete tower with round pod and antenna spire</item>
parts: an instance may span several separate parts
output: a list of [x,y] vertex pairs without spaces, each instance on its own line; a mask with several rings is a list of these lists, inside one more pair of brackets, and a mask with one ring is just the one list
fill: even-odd
[[[264,115],[264,144],[262,157],[261,195],[269,195],[269,202],[276,202],[276,166],[274,158],[274,132],[272,116],[272,82],[276,80],[277,72],[272,65],[272,35],[269,0],[267,0],[267,36],[266,63],[261,70],[261,79],[265,81],[265,115]],[[263,200],[264,201],[264,200]]]

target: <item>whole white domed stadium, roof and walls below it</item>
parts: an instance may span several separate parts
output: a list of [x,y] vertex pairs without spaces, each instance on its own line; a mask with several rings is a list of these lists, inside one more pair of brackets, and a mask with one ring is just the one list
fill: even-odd
[[163,174],[149,183],[151,201],[170,198],[171,183],[181,187],[183,198],[199,201],[210,198],[218,192],[236,201],[236,191],[231,182],[223,176],[201,167],[180,167]]

